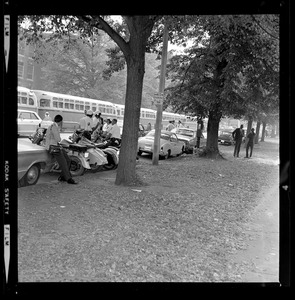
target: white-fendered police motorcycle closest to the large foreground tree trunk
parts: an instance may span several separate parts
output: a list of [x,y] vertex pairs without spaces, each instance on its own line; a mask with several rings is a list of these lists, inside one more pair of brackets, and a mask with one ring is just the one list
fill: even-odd
[[106,143],[94,143],[87,137],[83,130],[77,129],[69,139],[78,145],[86,146],[90,160],[95,161],[101,158],[101,156],[106,158],[106,161],[104,160],[97,169],[90,163],[92,170],[96,172],[98,170],[112,170],[117,168],[119,162],[118,149],[108,146]]

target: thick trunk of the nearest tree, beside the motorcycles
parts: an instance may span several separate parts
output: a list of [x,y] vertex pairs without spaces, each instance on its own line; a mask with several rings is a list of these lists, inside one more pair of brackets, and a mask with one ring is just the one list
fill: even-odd
[[125,98],[124,126],[120,149],[119,166],[115,184],[136,184],[136,155],[138,128],[145,71],[145,45],[147,38],[133,35],[130,38],[131,53],[126,57],[127,87]]

